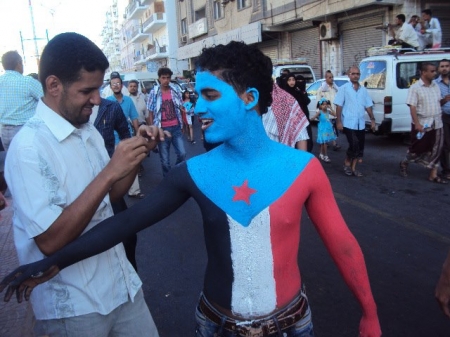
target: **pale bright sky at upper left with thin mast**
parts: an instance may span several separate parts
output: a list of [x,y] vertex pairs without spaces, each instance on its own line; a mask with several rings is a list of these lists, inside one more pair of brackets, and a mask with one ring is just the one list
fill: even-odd
[[30,2],[36,38],[40,39],[39,54],[47,42],[46,31],[49,39],[59,33],[77,32],[101,47],[100,34],[112,0],[0,0],[0,55],[17,50],[24,57],[24,74],[37,72]]

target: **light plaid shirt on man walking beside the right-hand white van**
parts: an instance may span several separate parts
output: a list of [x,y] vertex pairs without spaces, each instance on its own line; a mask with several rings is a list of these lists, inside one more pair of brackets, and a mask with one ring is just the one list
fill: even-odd
[[435,81],[425,86],[422,79],[409,87],[406,104],[415,106],[417,117],[422,125],[429,127],[434,125],[435,129],[442,128],[441,113],[441,91]]

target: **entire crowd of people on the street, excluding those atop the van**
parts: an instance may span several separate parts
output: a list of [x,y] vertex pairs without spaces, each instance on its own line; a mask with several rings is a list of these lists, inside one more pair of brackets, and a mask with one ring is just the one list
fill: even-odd
[[[4,76],[19,83],[17,56],[2,62]],[[357,165],[364,155],[365,113],[372,128],[375,119],[358,67],[339,88],[327,71],[317,110],[310,112],[304,78],[286,72],[274,83],[270,59],[241,42],[203,49],[195,64],[195,107],[170,85],[173,73],[166,67],[148,96],[133,81],[124,95],[120,74],[111,73],[113,95],[103,99],[98,89],[108,66],[92,41],[63,33],[42,53],[40,84],[26,80],[42,91],[30,91],[32,113],[11,128],[5,174],[23,266],[0,284],[0,291],[8,287],[6,300],[14,293],[19,301],[30,299],[48,335],[158,336],[137,274],[136,233],[193,198],[203,214],[208,254],[196,336],[314,336],[297,262],[305,207],[361,306],[359,335],[381,336],[362,251],[319,161],[330,162],[327,144],[339,150],[342,132],[348,141],[343,172],[363,176]],[[450,178],[450,61],[442,60],[438,70],[434,80],[436,66],[422,64],[421,79],[409,89],[414,141],[400,172],[406,176],[407,164],[418,162],[430,169],[430,181],[444,183]],[[187,124],[194,142],[194,112],[205,141],[220,145],[186,159],[183,129]],[[309,118],[319,119],[319,160],[310,153]],[[133,186],[156,147],[163,180],[144,196]],[[142,200],[127,209],[125,194]],[[445,268],[436,297],[448,314]]]

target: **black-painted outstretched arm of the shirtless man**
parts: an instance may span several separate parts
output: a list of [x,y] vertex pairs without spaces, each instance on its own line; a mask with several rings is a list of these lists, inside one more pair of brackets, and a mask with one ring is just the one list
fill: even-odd
[[48,258],[20,266],[0,283],[0,292],[8,287],[4,300],[9,301],[14,293],[19,302],[23,297],[28,300],[34,287],[48,281],[60,270],[104,252],[164,219],[190,197],[183,188],[186,179],[189,176],[185,166],[172,169],[167,178],[139,203],[102,221]]

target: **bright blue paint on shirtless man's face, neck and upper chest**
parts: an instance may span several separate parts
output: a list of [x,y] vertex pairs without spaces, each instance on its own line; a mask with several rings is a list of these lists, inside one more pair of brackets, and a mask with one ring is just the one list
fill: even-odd
[[[206,91],[205,91],[206,90]],[[220,96],[204,96],[209,90]],[[198,188],[218,207],[243,226],[277,200],[291,186],[313,156],[271,141],[254,110],[259,93],[246,104],[234,88],[209,72],[198,72],[199,98],[195,114],[211,119],[205,130],[209,142],[223,144],[187,162]],[[245,198],[236,197],[236,187],[255,190]]]

